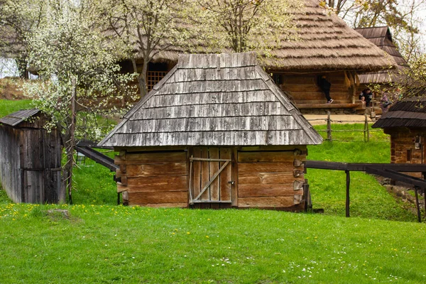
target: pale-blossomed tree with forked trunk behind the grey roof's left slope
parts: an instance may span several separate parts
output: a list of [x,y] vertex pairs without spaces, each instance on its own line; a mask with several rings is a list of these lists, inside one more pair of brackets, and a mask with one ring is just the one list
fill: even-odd
[[[189,32],[189,0],[103,0],[99,10],[107,21],[106,29],[121,43],[124,57],[138,73],[141,97],[147,93],[149,63],[170,47],[186,46]],[[138,70],[137,59],[142,60]]]

